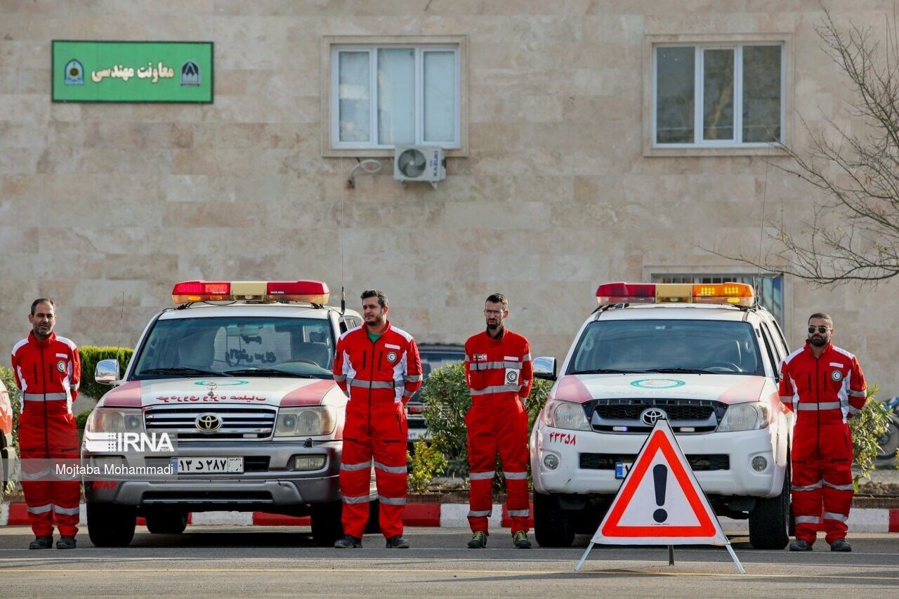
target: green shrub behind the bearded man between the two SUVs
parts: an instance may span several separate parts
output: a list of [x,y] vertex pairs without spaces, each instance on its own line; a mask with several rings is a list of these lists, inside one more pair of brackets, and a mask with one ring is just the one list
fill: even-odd
[[[528,430],[547,402],[552,384],[535,379],[530,397],[525,402],[528,410]],[[465,415],[471,407],[471,396],[465,381],[465,365],[450,364],[432,371],[422,390],[424,418],[432,447],[447,460],[448,470],[462,478],[468,477],[467,429]],[[417,451],[417,449],[416,449]],[[494,478],[502,483],[502,470]]]

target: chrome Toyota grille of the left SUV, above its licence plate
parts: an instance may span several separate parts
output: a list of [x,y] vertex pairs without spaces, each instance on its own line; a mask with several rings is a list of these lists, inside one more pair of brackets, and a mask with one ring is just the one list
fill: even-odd
[[[204,433],[197,428],[197,418],[205,414],[221,419],[221,427],[214,433]],[[273,407],[155,406],[144,413],[144,423],[147,433],[174,433],[179,443],[269,439],[276,415]]]

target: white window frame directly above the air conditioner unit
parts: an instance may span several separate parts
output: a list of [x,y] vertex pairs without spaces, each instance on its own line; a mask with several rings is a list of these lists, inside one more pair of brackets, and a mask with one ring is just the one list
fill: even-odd
[[[335,44],[331,46],[331,89],[330,89],[330,148],[365,149],[365,150],[392,150],[395,144],[379,144],[378,138],[378,49],[402,48],[414,49],[415,59],[415,139],[409,145],[433,146],[444,149],[462,148],[462,93],[461,93],[461,51],[458,44]],[[454,139],[445,142],[424,140],[424,55],[428,52],[441,51],[452,52],[455,62],[453,69],[455,90],[455,131]],[[340,82],[340,52],[368,52],[369,54],[369,139],[368,142],[340,141],[340,98],[338,85]]]

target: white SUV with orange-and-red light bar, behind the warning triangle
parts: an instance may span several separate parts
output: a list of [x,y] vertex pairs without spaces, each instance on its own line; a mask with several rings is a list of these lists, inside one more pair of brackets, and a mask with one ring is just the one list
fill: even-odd
[[718,515],[749,519],[752,547],[791,528],[793,419],[778,397],[787,344],[742,283],[607,283],[530,438],[534,532],[564,547],[596,531],[658,418],[667,418]]

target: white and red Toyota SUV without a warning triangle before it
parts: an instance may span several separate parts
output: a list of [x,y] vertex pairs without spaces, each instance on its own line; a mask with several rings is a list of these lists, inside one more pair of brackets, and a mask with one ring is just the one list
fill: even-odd
[[[314,540],[330,545],[343,534],[347,402],[331,368],[359,314],[326,306],[315,281],[181,282],[172,294],[176,307],[150,320],[121,380],[114,360],[96,368],[115,389],[85,426],[83,466],[100,472],[85,479],[91,541],[128,545],[137,516],[150,532],[179,533],[188,513],[235,510],[311,514]],[[127,434],[167,434],[174,451],[112,443]],[[111,443],[88,443],[98,438]],[[124,475],[104,478],[111,471]]]

